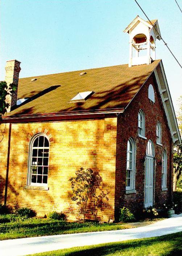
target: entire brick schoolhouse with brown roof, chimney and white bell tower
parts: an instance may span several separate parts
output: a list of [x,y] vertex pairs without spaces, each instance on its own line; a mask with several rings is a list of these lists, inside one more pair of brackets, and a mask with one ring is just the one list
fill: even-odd
[[[0,143],[0,202],[38,215],[63,211],[79,219],[69,178],[80,167],[103,178],[109,200],[98,219],[160,206],[173,196],[173,144],[178,125],[161,60],[157,20],[136,17],[129,34],[129,64],[21,78],[7,61],[7,98]],[[92,219],[91,210],[87,218]]]

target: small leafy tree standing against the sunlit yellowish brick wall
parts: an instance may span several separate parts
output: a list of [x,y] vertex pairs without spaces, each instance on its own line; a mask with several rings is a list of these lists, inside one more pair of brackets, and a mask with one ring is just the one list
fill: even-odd
[[83,222],[85,221],[88,201],[93,204],[94,219],[98,209],[102,208],[103,199],[108,201],[108,191],[104,192],[102,177],[99,173],[94,173],[92,169],[84,170],[82,167],[75,172],[76,176],[71,177],[71,189],[73,197],[71,199],[80,206],[80,212],[83,214]]

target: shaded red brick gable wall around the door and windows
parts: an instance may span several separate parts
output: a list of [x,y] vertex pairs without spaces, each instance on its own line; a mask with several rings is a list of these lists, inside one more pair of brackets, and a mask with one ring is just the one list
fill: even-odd
[[[152,84],[154,87],[154,104],[148,99],[149,84]],[[140,109],[142,109],[145,114],[146,140],[138,137],[138,111]],[[161,123],[162,146],[156,144],[157,121],[160,121]],[[136,143],[136,193],[133,194],[125,193],[126,152],[129,137],[133,137]],[[171,151],[171,137],[166,123],[165,112],[162,107],[160,94],[153,75],[146,81],[125,112],[118,116],[115,184],[116,216],[118,215],[119,208],[122,206],[128,207],[132,211],[135,211],[138,207],[144,207],[145,166],[142,162],[142,158],[145,157],[146,145],[149,139],[153,141],[156,157],[154,204],[155,206],[160,206],[171,198],[173,155]],[[162,161],[163,149],[166,149],[167,153],[167,191],[162,191],[161,188],[162,166],[159,165],[159,162]]]

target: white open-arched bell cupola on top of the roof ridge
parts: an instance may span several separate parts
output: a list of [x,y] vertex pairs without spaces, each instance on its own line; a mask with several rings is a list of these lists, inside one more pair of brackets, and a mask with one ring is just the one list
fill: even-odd
[[145,21],[137,16],[124,33],[129,34],[129,67],[150,64],[156,59],[156,39],[161,40],[157,20]]

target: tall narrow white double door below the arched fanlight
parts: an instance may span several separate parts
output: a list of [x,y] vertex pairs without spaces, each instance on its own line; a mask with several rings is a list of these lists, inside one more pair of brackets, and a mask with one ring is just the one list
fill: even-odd
[[146,156],[145,165],[145,207],[153,206],[154,157]]

